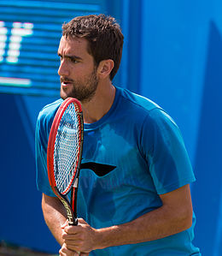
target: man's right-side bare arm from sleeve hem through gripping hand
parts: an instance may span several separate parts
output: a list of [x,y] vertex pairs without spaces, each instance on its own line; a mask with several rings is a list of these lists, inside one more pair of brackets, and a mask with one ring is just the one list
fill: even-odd
[[190,186],[185,185],[160,195],[162,206],[141,217],[120,225],[94,229],[83,219],[78,226],[67,226],[62,238],[67,248],[91,252],[105,247],[154,241],[189,229],[192,224]]

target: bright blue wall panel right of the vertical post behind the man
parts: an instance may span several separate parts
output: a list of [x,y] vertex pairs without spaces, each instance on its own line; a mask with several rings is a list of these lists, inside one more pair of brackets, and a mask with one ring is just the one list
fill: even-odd
[[222,3],[143,1],[142,93],[178,123],[196,173],[196,245],[222,255]]

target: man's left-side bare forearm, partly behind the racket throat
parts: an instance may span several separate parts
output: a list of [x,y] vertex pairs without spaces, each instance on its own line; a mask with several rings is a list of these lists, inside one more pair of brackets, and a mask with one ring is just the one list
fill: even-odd
[[45,223],[49,227],[52,235],[54,235],[56,241],[62,245],[63,239],[61,238],[61,225],[66,222],[66,211],[64,210],[63,205],[61,205],[59,199],[52,199],[44,194],[42,199],[42,209]]

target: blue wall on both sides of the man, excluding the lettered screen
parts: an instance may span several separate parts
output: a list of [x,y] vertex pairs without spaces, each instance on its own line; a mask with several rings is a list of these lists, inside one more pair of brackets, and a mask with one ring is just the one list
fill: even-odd
[[[101,4],[126,36],[115,84],[151,98],[178,123],[196,173],[195,242],[203,255],[222,255],[222,2]],[[0,94],[0,188],[6,197],[0,239],[50,252],[58,246],[44,224],[35,186],[34,128],[38,111],[54,99]]]

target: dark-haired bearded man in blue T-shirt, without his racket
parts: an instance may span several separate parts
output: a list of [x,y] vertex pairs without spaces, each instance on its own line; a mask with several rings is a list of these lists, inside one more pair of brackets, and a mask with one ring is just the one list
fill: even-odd
[[50,189],[46,149],[62,99],[39,113],[37,184],[60,255],[201,255],[194,247],[195,181],[175,122],[157,104],[112,84],[123,35],[114,18],[88,15],[63,25],[61,98],[82,104],[85,139],[78,226]]

